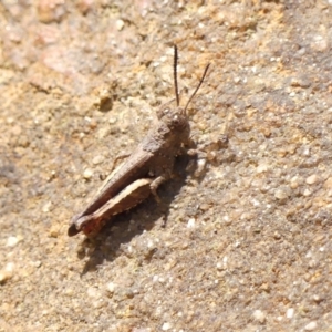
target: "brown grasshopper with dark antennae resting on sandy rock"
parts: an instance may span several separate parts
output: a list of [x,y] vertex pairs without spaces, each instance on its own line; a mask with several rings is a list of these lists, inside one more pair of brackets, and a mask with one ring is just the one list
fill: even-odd
[[157,201],[157,188],[169,179],[174,160],[183,145],[189,142],[190,126],[187,108],[199,90],[209,64],[205,68],[201,79],[189,97],[185,108],[179,106],[177,85],[177,48],[174,46],[174,85],[176,107],[172,108],[170,101],[158,112],[158,123],[152,127],[146,137],[129,155],[126,162],[115,169],[94,197],[91,204],[71,220],[68,235],[74,236],[80,231],[85,235],[96,234],[112,216],[135,207],[153,194]]

